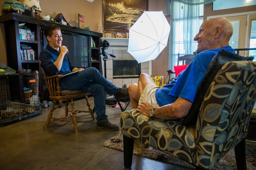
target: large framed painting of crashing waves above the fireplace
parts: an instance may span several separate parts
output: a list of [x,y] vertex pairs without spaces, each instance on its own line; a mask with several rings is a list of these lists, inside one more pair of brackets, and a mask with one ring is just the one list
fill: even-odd
[[144,11],[148,0],[103,0],[103,23],[107,32],[129,32]]

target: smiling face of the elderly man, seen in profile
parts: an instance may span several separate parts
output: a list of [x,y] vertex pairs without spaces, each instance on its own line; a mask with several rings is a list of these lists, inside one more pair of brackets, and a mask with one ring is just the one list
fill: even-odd
[[207,24],[202,24],[199,29],[199,33],[194,37],[194,41],[197,41],[197,52],[202,52],[204,50],[213,49],[215,46],[214,38],[214,26],[209,22]]

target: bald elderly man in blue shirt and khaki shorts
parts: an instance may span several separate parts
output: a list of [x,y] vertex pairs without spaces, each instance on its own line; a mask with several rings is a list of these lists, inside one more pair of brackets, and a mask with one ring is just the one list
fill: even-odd
[[205,21],[194,40],[200,52],[170,84],[159,88],[147,74],[141,74],[138,84],[129,86],[132,108],[141,114],[163,119],[182,118],[192,106],[196,90],[212,60],[221,50],[235,53],[229,46],[233,26],[226,18]]

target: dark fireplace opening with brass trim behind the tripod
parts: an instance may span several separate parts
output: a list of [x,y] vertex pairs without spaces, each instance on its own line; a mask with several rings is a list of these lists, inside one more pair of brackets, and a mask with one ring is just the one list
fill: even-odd
[[134,59],[113,59],[113,79],[138,78],[140,63]]

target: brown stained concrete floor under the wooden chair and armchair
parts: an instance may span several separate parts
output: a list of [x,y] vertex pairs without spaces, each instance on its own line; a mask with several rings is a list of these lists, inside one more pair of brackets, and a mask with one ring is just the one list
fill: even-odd
[[[81,109],[84,101],[75,101],[75,109]],[[93,97],[89,97],[89,101],[93,108]],[[128,109],[131,109],[130,104]],[[103,146],[104,141],[114,137],[120,130],[97,129],[96,120],[92,121],[90,115],[83,116],[83,113],[77,114],[78,133],[74,133],[72,122],[56,120],[51,120],[45,129],[50,107],[42,110],[43,114],[35,118],[0,127],[0,169],[126,169],[123,152]],[[64,115],[64,109],[55,110],[55,114],[62,113]],[[111,123],[120,124],[120,108],[107,105],[106,113]],[[133,155],[131,169],[191,168]]]

